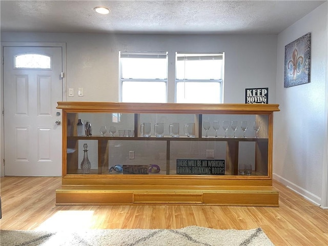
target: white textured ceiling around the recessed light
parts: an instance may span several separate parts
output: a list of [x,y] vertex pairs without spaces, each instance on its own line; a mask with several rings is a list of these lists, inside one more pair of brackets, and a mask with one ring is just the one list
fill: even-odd
[[[4,1],[1,31],[277,34],[326,1]],[[96,13],[108,7],[108,15]]]

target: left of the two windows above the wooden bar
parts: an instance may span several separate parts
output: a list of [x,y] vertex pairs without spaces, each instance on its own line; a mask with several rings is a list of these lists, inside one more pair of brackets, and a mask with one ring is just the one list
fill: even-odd
[[120,101],[167,103],[167,52],[120,52]]

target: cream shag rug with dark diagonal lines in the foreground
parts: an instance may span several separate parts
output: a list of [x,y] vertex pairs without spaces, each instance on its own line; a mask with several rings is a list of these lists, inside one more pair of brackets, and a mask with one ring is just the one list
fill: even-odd
[[260,229],[216,230],[203,227],[81,231],[0,231],[1,246],[274,246]]

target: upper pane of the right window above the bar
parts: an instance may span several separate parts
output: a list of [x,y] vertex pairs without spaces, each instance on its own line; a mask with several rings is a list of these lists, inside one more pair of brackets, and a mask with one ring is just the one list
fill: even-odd
[[221,79],[222,60],[177,60],[177,79]]

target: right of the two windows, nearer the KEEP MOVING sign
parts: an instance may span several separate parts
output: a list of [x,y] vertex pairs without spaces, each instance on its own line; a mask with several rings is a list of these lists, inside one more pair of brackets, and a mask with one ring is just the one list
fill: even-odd
[[176,53],[176,103],[222,103],[223,53]]

